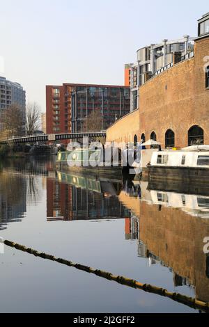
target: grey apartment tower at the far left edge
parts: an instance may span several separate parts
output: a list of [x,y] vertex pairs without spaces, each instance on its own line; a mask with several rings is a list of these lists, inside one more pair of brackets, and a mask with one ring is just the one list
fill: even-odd
[[0,130],[1,115],[11,104],[17,104],[22,109],[25,117],[26,93],[19,83],[8,81],[5,77],[0,77]]

